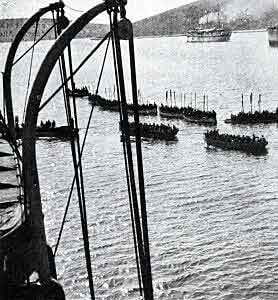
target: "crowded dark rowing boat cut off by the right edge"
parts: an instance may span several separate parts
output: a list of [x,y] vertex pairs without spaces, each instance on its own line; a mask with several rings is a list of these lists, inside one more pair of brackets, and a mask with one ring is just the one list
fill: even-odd
[[237,115],[231,115],[230,119],[224,121],[226,124],[269,124],[278,122],[278,110],[269,112],[264,110],[262,112],[255,111],[254,113],[239,112]]

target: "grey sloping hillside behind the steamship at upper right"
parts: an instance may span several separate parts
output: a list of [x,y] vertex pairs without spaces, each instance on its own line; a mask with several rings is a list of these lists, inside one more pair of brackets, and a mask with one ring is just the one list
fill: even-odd
[[233,30],[266,28],[278,22],[273,0],[199,0],[134,23],[135,36],[184,34],[220,15]]

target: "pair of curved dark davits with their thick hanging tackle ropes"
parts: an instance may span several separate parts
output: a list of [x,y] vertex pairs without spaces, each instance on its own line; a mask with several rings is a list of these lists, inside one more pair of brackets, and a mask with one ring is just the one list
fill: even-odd
[[[137,99],[137,87],[136,87],[136,71],[135,71],[135,57],[134,57],[134,45],[133,45],[133,34],[132,25],[125,17],[125,0],[106,0],[105,2],[93,7],[92,9],[85,12],[72,24],[70,24],[61,34],[57,37],[54,45],[50,48],[47,55],[45,56],[33,82],[28,103],[26,107],[23,137],[22,137],[22,166],[23,166],[23,179],[24,179],[24,196],[25,196],[25,209],[28,208],[26,214],[26,221],[24,224],[24,236],[22,237],[22,245],[20,254],[17,255],[17,259],[20,263],[24,264],[25,275],[30,276],[34,271],[38,273],[39,280],[42,286],[50,289],[52,295],[55,293],[55,299],[63,299],[64,294],[62,288],[53,279],[53,261],[49,258],[49,247],[46,242],[45,227],[42,213],[42,203],[40,195],[39,176],[37,170],[36,160],[36,126],[38,121],[38,115],[45,103],[42,102],[45,87],[48,79],[55,67],[55,64],[59,62],[62,70],[62,88],[64,87],[64,94],[66,97],[67,109],[70,109],[70,103],[67,95],[67,82],[69,81],[74,87],[73,81],[73,69],[71,59],[69,60],[70,66],[70,77],[66,75],[64,52],[68,50],[69,57],[71,56],[70,43],[72,39],[95,17],[99,14],[108,12],[113,14],[113,22],[111,21],[112,40],[113,40],[113,53],[115,62],[115,73],[117,81],[117,90],[119,96],[120,105],[120,116],[123,123],[123,148],[125,153],[126,169],[127,169],[127,182],[130,191],[130,206],[131,206],[131,218],[132,225],[135,234],[135,251],[138,263],[139,283],[141,296],[145,300],[153,299],[153,287],[152,287],[152,276],[151,276],[151,264],[150,264],[150,252],[149,252],[149,241],[148,241],[148,230],[147,230],[147,213],[146,213],[146,200],[144,192],[144,176],[143,176],[143,163],[142,163],[142,150],[141,150],[141,137],[139,133],[139,115],[138,115],[138,99]],[[55,3],[40,10],[30,20],[28,20],[23,28],[19,31],[18,35],[10,52],[4,72],[4,100],[7,110],[8,126],[11,131],[11,135],[15,139],[15,125],[13,116],[13,105],[11,96],[11,71],[14,64],[14,58],[16,50],[19,46],[25,33],[28,29],[37,22],[37,20],[44,13],[49,11],[57,11],[57,15],[63,17],[63,12],[59,13],[60,9],[63,9],[63,3]],[[121,16],[121,21],[118,22],[118,15]],[[111,18],[110,18],[111,20]],[[135,184],[135,172],[133,166],[132,150],[129,136],[129,125],[128,116],[126,109],[126,96],[125,96],[125,84],[123,76],[122,58],[121,58],[121,45],[120,39],[129,40],[129,53],[130,53],[130,67],[131,67],[131,78],[132,78],[132,91],[133,101],[135,104],[134,116],[136,123],[136,154],[138,162],[138,180],[139,180],[139,195],[140,205],[137,202],[137,191]],[[33,45],[34,46],[34,45]],[[49,100],[50,101],[50,100]],[[76,108],[75,101],[73,99],[73,109],[75,118],[75,124],[73,119],[69,118],[68,122],[72,123],[71,126],[77,127],[77,118],[75,117]],[[83,238],[88,236],[87,232],[87,219],[86,219],[86,206],[85,199],[83,196],[83,178],[82,178],[82,167],[81,162],[77,160],[77,156],[80,156],[80,145],[79,139],[77,146],[74,141],[71,141],[73,162],[75,167],[76,184],[81,186],[81,190],[78,191],[80,200],[80,216],[82,221]],[[76,148],[77,147],[77,148]],[[78,163],[77,163],[78,162]],[[80,180],[80,183],[78,182]],[[83,203],[82,203],[83,201]],[[84,226],[84,227],[83,227]],[[29,238],[27,238],[29,235]],[[17,237],[18,238],[18,237]],[[18,240],[14,241],[15,245],[18,245]],[[86,254],[86,263],[89,277],[89,286],[91,292],[91,298],[95,299],[93,290],[92,273],[90,269],[90,254],[89,254],[89,242],[84,241],[84,249]],[[87,251],[87,252],[86,252]],[[19,265],[17,266],[19,268]],[[15,280],[15,283],[22,281],[22,278]]]

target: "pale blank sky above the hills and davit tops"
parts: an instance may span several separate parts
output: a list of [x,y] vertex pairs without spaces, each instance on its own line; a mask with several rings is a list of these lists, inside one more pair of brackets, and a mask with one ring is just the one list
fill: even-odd
[[[28,17],[39,8],[56,1],[0,0],[0,15],[1,18]],[[67,7],[66,13],[70,19],[77,18],[81,14],[78,11],[86,11],[100,2],[101,0],[64,0]],[[131,21],[138,21],[190,2],[194,2],[194,0],[128,0],[127,16]],[[99,21],[102,22],[102,19],[99,19]]]

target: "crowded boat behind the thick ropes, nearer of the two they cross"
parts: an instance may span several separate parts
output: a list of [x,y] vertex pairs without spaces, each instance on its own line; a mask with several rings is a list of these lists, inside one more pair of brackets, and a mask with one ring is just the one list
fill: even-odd
[[[164,124],[147,124],[139,123],[140,126],[140,135],[144,138],[158,139],[171,141],[176,139],[176,135],[179,129],[176,126],[168,126]],[[136,126],[135,123],[129,123],[130,135],[136,135]]]

